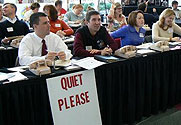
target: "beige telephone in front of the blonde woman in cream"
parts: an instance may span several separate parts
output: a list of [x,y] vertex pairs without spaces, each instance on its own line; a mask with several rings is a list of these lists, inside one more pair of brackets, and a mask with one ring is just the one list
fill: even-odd
[[160,52],[169,51],[169,42],[168,41],[158,41],[155,44],[150,46],[150,49],[157,50]]

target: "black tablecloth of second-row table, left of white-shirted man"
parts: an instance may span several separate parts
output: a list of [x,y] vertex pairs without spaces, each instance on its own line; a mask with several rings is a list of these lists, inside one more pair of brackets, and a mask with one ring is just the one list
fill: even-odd
[[17,56],[18,56],[17,48],[0,50],[0,68],[14,67]]

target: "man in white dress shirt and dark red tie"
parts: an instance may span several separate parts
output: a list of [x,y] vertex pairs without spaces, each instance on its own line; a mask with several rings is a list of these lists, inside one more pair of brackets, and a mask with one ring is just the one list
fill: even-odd
[[45,13],[32,14],[30,25],[35,32],[27,34],[20,43],[18,52],[20,65],[29,65],[42,59],[53,60],[55,56],[61,60],[72,57],[71,51],[62,39],[50,32],[49,20]]

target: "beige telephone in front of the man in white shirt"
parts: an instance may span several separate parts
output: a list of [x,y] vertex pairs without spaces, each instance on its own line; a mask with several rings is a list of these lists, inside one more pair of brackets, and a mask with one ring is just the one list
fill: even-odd
[[52,66],[52,61],[50,60],[39,60],[29,66],[29,70],[35,75],[45,75],[51,73],[50,67]]

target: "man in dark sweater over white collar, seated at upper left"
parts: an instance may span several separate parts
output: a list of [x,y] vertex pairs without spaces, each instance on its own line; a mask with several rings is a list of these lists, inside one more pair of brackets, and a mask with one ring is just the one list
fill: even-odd
[[26,35],[30,32],[28,25],[16,17],[17,7],[13,3],[3,5],[3,13],[7,20],[0,23],[0,41],[9,43],[6,37]]

